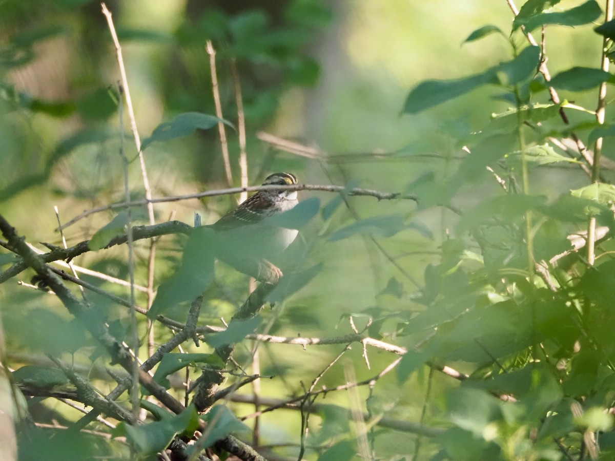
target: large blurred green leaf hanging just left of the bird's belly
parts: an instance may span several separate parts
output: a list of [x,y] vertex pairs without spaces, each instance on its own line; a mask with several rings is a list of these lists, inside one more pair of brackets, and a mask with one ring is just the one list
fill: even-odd
[[214,231],[209,227],[196,227],[192,231],[180,268],[158,287],[148,311],[149,318],[156,318],[180,302],[192,301],[207,289],[213,280],[214,242]]

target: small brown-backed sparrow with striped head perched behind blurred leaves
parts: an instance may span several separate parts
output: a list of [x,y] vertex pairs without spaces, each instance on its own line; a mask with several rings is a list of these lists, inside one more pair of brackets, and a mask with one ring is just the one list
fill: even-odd
[[[297,184],[292,173],[273,173],[263,182],[263,186],[292,184]],[[256,192],[211,225],[216,258],[256,280],[277,283],[284,274],[269,259],[293,243],[298,230],[282,227],[270,218],[292,210],[297,203],[296,191]]]

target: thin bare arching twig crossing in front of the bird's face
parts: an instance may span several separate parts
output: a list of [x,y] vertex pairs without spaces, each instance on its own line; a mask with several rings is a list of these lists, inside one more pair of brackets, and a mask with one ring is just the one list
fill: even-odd
[[362,189],[360,187],[353,187],[347,189],[344,186],[321,186],[318,184],[291,184],[288,186],[247,186],[247,187],[230,187],[229,189],[216,189],[215,191],[197,192],[196,194],[186,195],[173,195],[171,197],[161,197],[158,199],[141,199],[133,200],[130,203],[118,202],[111,203],[110,205],[103,205],[101,207],[91,208],[86,210],[80,215],[75,216],[70,221],[63,224],[62,229],[66,229],[68,226],[72,226],[77,221],[93,215],[94,213],[100,213],[100,211],[114,210],[116,208],[125,207],[138,207],[140,205],[147,205],[148,203],[167,203],[167,202],[180,202],[181,200],[201,199],[202,197],[216,197],[218,195],[230,195],[240,194],[241,192],[258,192],[258,191],[320,191],[320,192],[344,192],[346,195],[366,195],[368,197],[375,197],[378,200],[394,200],[405,199],[418,202],[415,195],[403,194],[402,192],[381,192],[373,189]]

